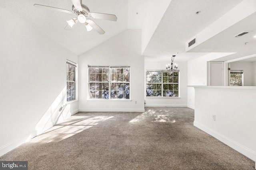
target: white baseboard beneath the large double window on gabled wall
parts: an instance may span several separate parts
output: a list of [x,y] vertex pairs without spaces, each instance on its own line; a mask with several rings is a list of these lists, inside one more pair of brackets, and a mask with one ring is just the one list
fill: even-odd
[[84,112],[108,112],[108,111],[113,111],[113,112],[144,112],[145,109],[114,109],[114,108],[110,108],[110,109],[102,109],[102,108],[97,108],[97,109],[79,109],[79,111],[84,111]]

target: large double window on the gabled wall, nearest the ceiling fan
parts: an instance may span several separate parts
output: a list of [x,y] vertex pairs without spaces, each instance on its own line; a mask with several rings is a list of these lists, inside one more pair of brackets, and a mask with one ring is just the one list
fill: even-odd
[[130,66],[88,66],[90,99],[130,99]]

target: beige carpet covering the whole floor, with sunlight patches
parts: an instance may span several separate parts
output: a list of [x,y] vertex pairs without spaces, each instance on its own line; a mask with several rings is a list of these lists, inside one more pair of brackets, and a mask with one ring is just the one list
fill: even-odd
[[254,162],[193,126],[187,107],[80,112],[0,157],[33,170],[255,170]]

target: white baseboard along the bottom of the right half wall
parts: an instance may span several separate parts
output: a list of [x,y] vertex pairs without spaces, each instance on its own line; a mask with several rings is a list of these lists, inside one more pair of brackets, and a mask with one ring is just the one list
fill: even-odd
[[231,147],[232,149],[240,152],[241,154],[243,154],[244,156],[247,156],[248,158],[250,158],[253,161],[256,161],[256,152],[254,152],[253,150],[250,150],[246,147],[244,147],[243,145],[240,145],[239,143],[236,143],[235,141],[225,137],[224,135],[221,135],[220,133],[194,121],[194,126],[198,127],[199,129],[201,129],[202,131],[208,133],[209,135],[215,137],[216,139],[218,139],[219,141],[225,143],[226,145],[228,145],[229,147]]

